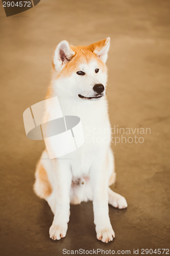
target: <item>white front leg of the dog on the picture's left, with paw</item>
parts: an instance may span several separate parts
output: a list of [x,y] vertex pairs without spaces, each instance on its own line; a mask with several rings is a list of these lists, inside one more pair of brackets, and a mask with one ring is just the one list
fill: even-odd
[[49,233],[53,240],[66,236],[69,221],[69,192],[71,185],[71,169],[65,160],[53,161],[55,215]]

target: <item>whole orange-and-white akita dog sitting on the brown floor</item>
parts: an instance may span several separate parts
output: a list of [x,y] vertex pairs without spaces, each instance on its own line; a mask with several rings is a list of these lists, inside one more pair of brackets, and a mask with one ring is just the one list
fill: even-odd
[[[47,98],[57,96],[64,115],[80,117],[85,143],[65,159],[46,160],[49,158],[44,150],[37,164],[34,190],[48,202],[54,213],[50,227],[53,240],[66,236],[70,203],[93,201],[96,237],[105,243],[114,238],[108,203],[119,209],[127,207],[126,199],[109,188],[115,181],[106,99],[105,63],[109,45],[109,37],[89,46],[77,47],[64,40],[54,52]],[[53,106],[46,106],[44,121],[47,122],[53,114]],[[94,132],[99,128],[108,132]],[[55,146],[59,147],[51,146],[54,151]]]

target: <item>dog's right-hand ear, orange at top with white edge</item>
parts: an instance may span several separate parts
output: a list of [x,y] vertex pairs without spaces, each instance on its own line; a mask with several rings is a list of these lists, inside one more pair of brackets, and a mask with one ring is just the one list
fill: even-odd
[[103,39],[99,42],[94,42],[90,45],[91,51],[100,58],[104,63],[106,63],[108,51],[110,47],[110,37]]

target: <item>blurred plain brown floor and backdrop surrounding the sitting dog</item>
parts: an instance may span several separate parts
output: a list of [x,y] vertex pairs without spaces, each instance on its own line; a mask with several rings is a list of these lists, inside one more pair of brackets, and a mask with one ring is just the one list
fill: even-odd
[[[167,248],[169,241],[170,2],[45,1],[1,19],[1,254],[62,255],[62,249]],[[22,113],[44,99],[54,47],[111,37],[108,100],[111,124],[150,127],[144,143],[113,145],[115,191],[127,210],[109,208],[116,237],[96,240],[92,203],[71,206],[67,236],[51,241],[53,215],[33,193],[42,141],[27,139]],[[131,251],[132,253],[132,251]]]

